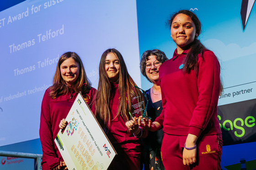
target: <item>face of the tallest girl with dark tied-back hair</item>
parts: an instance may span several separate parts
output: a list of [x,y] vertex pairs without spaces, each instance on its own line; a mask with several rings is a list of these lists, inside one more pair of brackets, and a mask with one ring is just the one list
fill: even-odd
[[196,36],[196,25],[185,14],[178,14],[171,23],[171,38],[176,43],[178,54],[187,50]]

